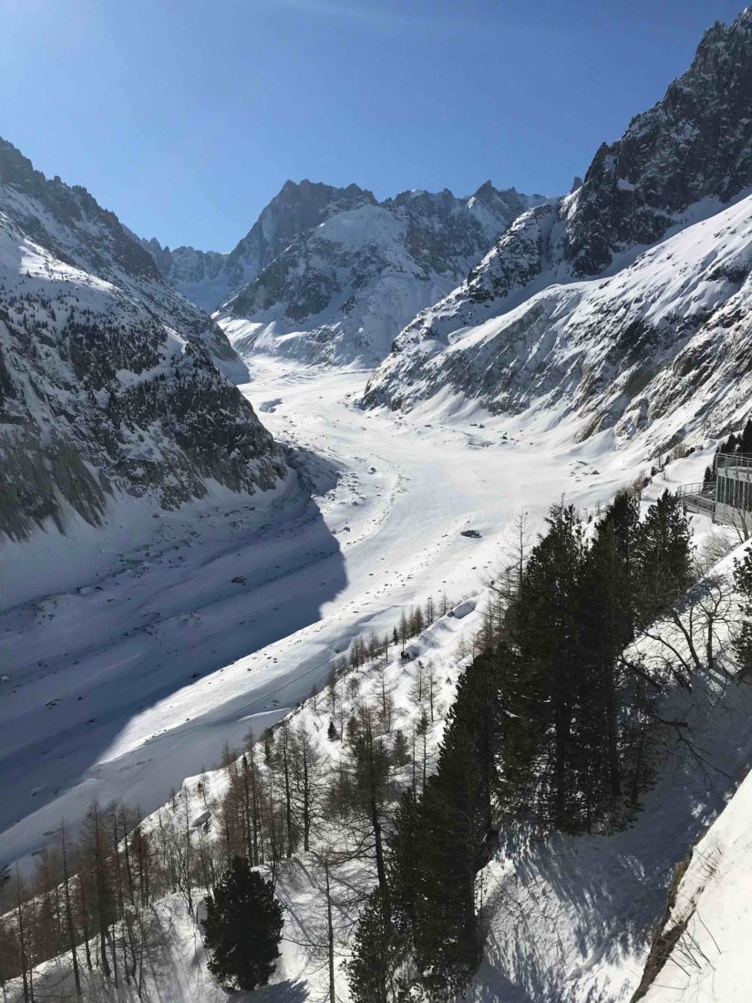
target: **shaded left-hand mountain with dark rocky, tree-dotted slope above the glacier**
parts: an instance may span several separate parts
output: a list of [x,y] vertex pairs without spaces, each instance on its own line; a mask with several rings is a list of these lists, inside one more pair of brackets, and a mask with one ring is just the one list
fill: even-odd
[[[0,534],[285,476],[220,328],[82,188],[0,140]],[[219,367],[219,368],[218,368]],[[227,375],[223,375],[222,369]],[[1,539],[1,538],[0,538]]]

